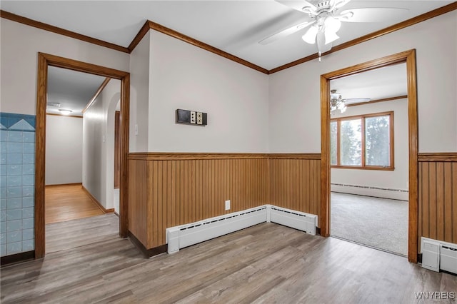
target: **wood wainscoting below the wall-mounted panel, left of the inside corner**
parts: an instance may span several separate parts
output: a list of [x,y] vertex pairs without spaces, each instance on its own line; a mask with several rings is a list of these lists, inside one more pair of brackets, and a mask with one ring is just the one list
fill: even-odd
[[266,203],[266,154],[129,154],[129,230],[146,249],[166,243],[166,228]]

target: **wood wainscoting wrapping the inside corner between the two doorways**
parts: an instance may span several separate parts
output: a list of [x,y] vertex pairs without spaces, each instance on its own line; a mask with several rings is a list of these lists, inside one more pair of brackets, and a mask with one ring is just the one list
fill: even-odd
[[[267,203],[319,214],[320,154],[130,153],[129,230],[145,246],[166,228]],[[224,202],[231,201],[225,211]]]

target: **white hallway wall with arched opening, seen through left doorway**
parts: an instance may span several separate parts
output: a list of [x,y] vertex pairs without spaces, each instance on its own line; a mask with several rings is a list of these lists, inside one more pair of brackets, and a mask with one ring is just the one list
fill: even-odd
[[83,186],[106,209],[114,208],[114,111],[121,81],[111,79],[83,120]]

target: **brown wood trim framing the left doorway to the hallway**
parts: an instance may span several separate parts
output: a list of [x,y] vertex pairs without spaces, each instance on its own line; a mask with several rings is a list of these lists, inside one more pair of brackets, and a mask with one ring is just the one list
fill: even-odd
[[121,80],[121,188],[119,234],[126,238],[128,233],[127,206],[127,154],[129,153],[129,109],[130,109],[130,74],[126,71],[88,64],[74,59],[38,54],[38,75],[36,89],[36,143],[35,143],[35,258],[45,254],[45,156],[46,156],[46,93],[48,66],[56,66],[74,71],[81,71],[99,76]]

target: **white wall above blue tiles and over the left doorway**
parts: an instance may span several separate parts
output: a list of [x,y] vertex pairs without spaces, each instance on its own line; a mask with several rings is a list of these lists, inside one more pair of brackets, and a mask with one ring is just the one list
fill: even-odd
[[1,111],[36,113],[38,53],[129,71],[129,54],[0,19]]

